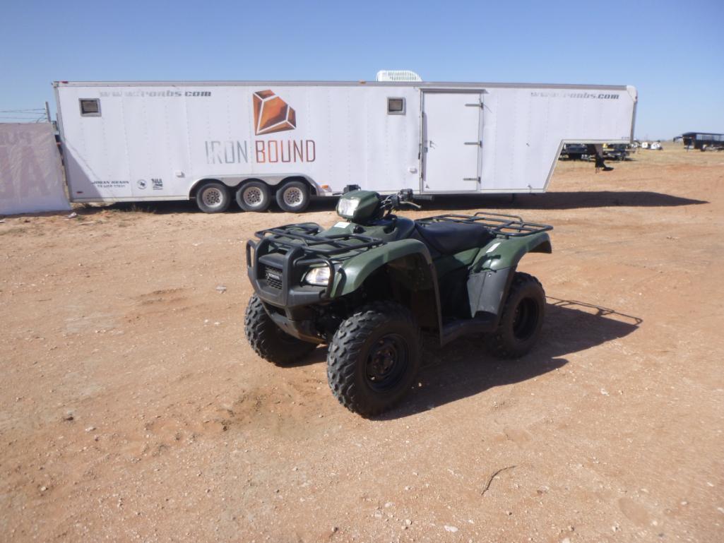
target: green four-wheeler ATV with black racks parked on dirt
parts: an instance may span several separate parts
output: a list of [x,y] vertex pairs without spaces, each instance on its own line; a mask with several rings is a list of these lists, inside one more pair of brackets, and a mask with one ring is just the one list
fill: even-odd
[[543,324],[543,288],[516,268],[526,253],[551,252],[552,227],[492,213],[393,214],[419,209],[412,198],[350,190],[337,204],[345,221],[261,230],[246,244],[251,347],[285,366],[327,343],[332,394],[363,416],[412,387],[421,332],[440,345],[477,335],[492,354],[517,358]]

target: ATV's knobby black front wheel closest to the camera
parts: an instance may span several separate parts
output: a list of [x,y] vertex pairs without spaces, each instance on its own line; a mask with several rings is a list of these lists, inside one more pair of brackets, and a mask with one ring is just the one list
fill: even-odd
[[413,384],[420,350],[410,311],[394,302],[370,303],[345,319],[329,344],[332,394],[354,413],[379,415]]

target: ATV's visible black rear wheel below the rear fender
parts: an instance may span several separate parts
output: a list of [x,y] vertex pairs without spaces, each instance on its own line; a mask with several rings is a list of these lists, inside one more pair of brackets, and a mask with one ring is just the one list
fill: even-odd
[[519,358],[533,347],[541,333],[545,292],[538,279],[515,273],[497,330],[486,337],[487,347],[499,358]]

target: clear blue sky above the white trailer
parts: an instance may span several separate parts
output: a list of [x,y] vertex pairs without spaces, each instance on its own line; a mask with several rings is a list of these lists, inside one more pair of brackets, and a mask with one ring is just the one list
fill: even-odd
[[724,132],[724,0],[6,0],[0,110],[53,80],[373,80],[636,85],[636,136]]

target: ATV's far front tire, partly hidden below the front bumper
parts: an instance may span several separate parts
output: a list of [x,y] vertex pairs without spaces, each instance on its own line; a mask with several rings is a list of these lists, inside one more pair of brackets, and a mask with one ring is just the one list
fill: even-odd
[[298,340],[279,328],[256,294],[246,306],[244,331],[254,352],[277,366],[290,366],[316,348],[315,343]]

